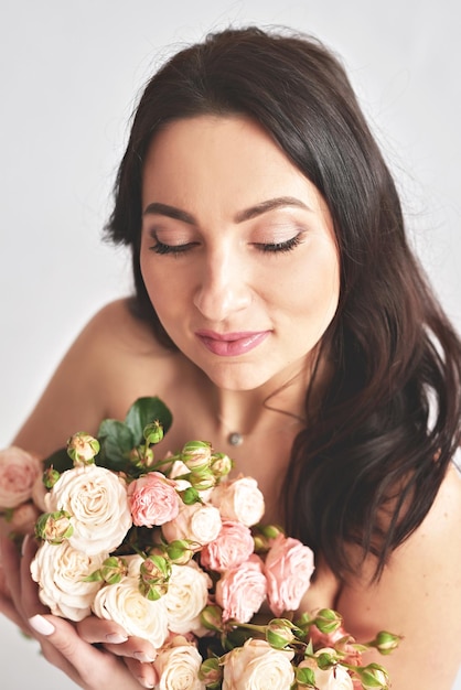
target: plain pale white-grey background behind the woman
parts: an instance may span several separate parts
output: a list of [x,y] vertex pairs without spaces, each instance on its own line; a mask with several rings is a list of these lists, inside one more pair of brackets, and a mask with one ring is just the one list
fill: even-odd
[[[100,236],[142,85],[168,55],[230,23],[289,25],[343,57],[397,175],[417,251],[460,330],[458,8],[457,0],[0,0],[0,448],[84,323],[129,290],[127,255]],[[75,687],[4,619],[0,668],[8,690]]]

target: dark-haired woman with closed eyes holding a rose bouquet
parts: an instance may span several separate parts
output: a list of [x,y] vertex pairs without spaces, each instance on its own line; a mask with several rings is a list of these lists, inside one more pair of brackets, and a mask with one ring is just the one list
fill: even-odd
[[[461,662],[461,345],[340,63],[257,29],[175,55],[137,109],[107,231],[131,247],[136,298],[93,319],[14,443],[45,456],[160,396],[175,420],[164,451],[212,439],[257,478],[267,519],[314,549],[302,608],[337,608],[360,640],[403,634],[393,688],[448,690]],[[21,583],[3,543],[2,605],[23,627],[43,612],[32,548]],[[31,625],[82,687],[152,687],[153,650],[119,626]]]

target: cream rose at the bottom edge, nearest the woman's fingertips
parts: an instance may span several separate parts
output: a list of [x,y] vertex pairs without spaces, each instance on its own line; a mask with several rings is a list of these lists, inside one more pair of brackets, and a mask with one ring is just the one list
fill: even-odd
[[202,657],[194,645],[182,644],[160,651],[153,662],[160,680],[158,690],[205,690],[199,679]]

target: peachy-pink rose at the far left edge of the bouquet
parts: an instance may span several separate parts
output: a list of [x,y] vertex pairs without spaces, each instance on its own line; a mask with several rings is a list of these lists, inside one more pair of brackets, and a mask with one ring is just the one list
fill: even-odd
[[0,451],[0,510],[29,500],[42,472],[40,460],[22,449],[11,445]]

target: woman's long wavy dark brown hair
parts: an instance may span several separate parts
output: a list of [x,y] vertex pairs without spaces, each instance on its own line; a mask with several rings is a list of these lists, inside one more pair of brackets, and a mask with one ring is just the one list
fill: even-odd
[[[340,61],[319,41],[256,28],[211,34],[147,84],[119,168],[107,234],[129,245],[138,315],[174,347],[142,281],[143,162],[168,122],[242,114],[323,195],[341,261],[322,352],[333,373],[292,446],[286,525],[340,576],[351,545],[390,552],[420,525],[460,444],[461,345],[411,252],[400,202]],[[355,552],[355,550],[354,550]]]

